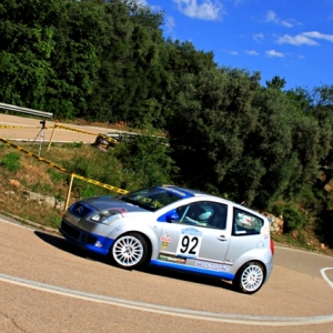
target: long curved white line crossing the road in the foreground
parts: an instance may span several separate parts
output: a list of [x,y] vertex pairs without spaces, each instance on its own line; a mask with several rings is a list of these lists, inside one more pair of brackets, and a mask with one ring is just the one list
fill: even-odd
[[16,284],[19,286],[30,287],[61,296],[73,297],[82,301],[89,301],[101,304],[109,304],[137,311],[172,315],[179,317],[203,320],[210,322],[223,322],[233,324],[261,325],[261,326],[299,326],[313,325],[333,322],[333,314],[311,317],[284,317],[284,316],[264,316],[264,315],[243,315],[229,313],[214,313],[198,310],[185,310],[173,306],[163,306],[158,304],[128,301],[117,297],[103,296],[99,294],[85,293],[81,291],[64,289],[46,283],[34,282],[26,279],[10,276],[0,273],[0,281]]

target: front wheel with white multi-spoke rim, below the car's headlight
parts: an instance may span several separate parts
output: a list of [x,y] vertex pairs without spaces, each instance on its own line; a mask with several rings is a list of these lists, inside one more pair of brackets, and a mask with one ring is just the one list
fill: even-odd
[[148,256],[148,244],[139,233],[121,235],[111,249],[112,262],[121,269],[138,269],[145,263]]

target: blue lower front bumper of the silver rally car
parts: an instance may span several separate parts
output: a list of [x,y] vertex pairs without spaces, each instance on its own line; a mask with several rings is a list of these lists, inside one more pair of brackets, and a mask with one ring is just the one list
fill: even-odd
[[114,240],[83,231],[64,219],[61,221],[59,231],[74,245],[98,254],[108,255]]

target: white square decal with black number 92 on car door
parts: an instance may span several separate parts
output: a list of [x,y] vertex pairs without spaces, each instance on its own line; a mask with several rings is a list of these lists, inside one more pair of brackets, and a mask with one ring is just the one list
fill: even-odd
[[195,259],[199,255],[202,232],[194,228],[182,229],[176,248],[176,256]]

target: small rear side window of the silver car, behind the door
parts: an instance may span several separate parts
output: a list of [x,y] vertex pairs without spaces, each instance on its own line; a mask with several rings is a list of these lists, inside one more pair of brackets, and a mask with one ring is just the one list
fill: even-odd
[[243,210],[233,209],[233,235],[260,234],[263,220]]

